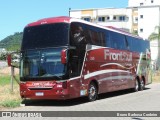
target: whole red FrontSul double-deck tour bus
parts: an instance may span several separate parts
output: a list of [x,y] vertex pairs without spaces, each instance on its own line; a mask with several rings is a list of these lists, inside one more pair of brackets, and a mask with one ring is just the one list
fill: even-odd
[[41,19],[23,33],[20,95],[65,100],[149,84],[149,41],[70,17]]

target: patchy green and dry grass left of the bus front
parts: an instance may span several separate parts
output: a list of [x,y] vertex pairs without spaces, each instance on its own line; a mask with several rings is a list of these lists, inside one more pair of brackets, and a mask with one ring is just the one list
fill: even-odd
[[19,85],[14,80],[13,91],[11,91],[10,79],[10,75],[0,76],[0,110],[18,107],[21,103]]

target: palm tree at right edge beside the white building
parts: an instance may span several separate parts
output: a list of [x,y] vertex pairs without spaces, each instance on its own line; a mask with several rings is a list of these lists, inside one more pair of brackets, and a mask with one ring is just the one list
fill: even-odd
[[149,40],[158,40],[158,58],[156,61],[156,65],[158,66],[158,68],[160,67],[160,26],[156,26],[155,27],[155,31],[151,33],[151,35],[149,36]]

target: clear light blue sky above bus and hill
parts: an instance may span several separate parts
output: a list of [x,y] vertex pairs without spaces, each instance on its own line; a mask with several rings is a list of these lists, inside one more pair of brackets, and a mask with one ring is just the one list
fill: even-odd
[[124,8],[128,0],[0,0],[0,40],[42,18],[68,16],[69,8]]

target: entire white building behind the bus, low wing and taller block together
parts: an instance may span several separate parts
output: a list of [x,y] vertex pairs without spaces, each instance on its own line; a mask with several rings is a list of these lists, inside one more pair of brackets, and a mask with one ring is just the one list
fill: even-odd
[[[125,29],[148,39],[155,27],[160,26],[160,0],[128,0],[126,8],[71,10],[70,16],[103,26]],[[150,46],[151,58],[156,60],[157,41],[151,41]]]

